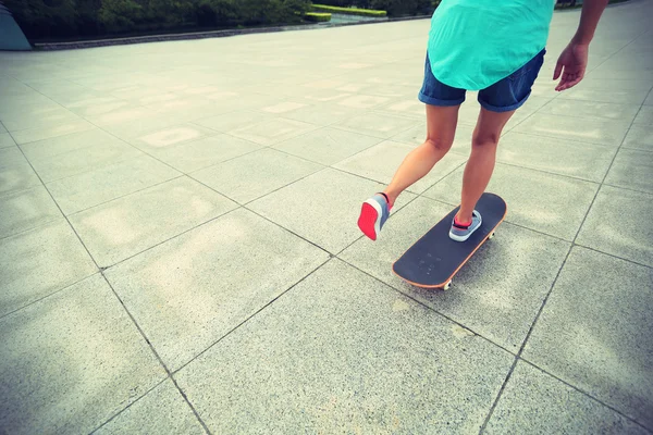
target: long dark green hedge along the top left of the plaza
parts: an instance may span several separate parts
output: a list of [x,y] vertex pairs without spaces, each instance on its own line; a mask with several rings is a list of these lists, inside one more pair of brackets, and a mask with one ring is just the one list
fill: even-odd
[[0,0],[33,42],[298,24],[310,0]]

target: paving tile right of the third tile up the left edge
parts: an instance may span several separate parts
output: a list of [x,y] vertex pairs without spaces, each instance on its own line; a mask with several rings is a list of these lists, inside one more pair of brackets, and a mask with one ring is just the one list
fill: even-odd
[[69,215],[181,175],[178,171],[141,156],[58,179],[47,186],[61,210]]

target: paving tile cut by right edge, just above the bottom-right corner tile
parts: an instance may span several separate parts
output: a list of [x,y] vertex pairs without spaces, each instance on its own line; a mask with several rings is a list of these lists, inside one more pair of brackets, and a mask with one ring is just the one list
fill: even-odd
[[651,269],[574,248],[522,353],[653,428]]

